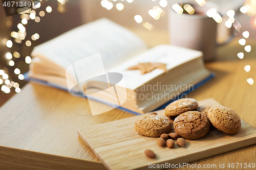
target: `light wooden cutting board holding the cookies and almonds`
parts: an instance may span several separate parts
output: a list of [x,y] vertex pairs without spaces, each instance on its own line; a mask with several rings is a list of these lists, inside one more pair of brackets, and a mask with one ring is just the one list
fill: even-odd
[[[201,105],[220,104],[214,99],[206,99],[199,101],[199,106]],[[157,113],[164,115],[164,110]],[[157,144],[158,138],[136,133],[134,124],[141,116],[143,115],[78,129],[77,132],[106,168],[118,170],[148,169],[149,163],[186,163],[256,143],[256,131],[242,120],[242,127],[237,134],[228,135],[212,127],[204,137],[186,140],[184,148],[177,143],[172,149],[160,147]],[[157,158],[148,158],[144,154],[146,149],[153,150]]]

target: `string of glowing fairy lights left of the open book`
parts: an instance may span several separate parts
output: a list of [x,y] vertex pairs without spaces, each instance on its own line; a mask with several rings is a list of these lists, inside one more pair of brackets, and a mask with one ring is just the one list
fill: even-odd
[[[48,1],[48,0],[46,0]],[[58,12],[63,13],[65,12],[65,3],[66,0],[57,0],[58,1]],[[21,44],[25,42],[26,46],[31,46],[33,41],[36,41],[39,39],[39,34],[35,33],[30,37],[27,36],[27,30],[26,27],[28,20],[34,20],[35,22],[40,22],[40,19],[46,15],[46,13],[51,13],[52,12],[52,7],[47,6],[45,11],[41,10],[36,13],[37,9],[40,8],[42,1],[37,0],[33,1],[32,3],[32,8],[30,9],[29,7],[23,7],[23,8],[18,8],[17,13],[20,14],[20,23],[17,25],[17,31],[12,31],[11,32],[11,37],[12,39],[9,39],[6,41],[6,46],[10,48],[9,52],[5,54],[5,59],[7,60],[8,66],[10,67],[15,67],[15,60],[22,57],[17,51],[12,51],[12,47],[17,44]],[[13,42],[14,41],[14,42]],[[30,56],[25,57],[25,63],[30,64],[32,59]],[[9,74],[8,74],[9,73]],[[14,82],[10,78],[10,74],[14,74],[17,76],[17,78],[22,81],[24,80],[24,75],[20,73],[20,69],[16,67],[13,70],[13,73],[9,72],[7,70],[7,67],[5,69],[0,68],[0,85],[1,85],[1,90],[5,93],[10,93],[11,88],[15,88],[15,92],[19,93],[21,91],[18,82]]]

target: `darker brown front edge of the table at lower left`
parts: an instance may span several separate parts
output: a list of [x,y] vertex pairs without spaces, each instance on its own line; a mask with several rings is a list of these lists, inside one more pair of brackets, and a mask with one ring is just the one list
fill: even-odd
[[0,147],[0,169],[105,169],[101,162]]

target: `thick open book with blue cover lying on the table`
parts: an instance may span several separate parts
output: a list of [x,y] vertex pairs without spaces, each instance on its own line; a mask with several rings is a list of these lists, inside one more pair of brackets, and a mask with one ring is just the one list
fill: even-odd
[[[202,55],[167,44],[148,50],[130,30],[102,18],[36,46],[25,77],[138,114],[211,79]],[[139,63],[163,63],[167,71],[127,69]]]

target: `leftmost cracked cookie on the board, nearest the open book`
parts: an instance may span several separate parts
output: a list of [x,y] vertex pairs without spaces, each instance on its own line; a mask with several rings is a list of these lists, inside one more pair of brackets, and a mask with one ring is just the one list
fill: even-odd
[[170,120],[159,115],[146,115],[135,122],[135,130],[138,134],[149,137],[159,137],[163,133],[169,133],[172,129]]

